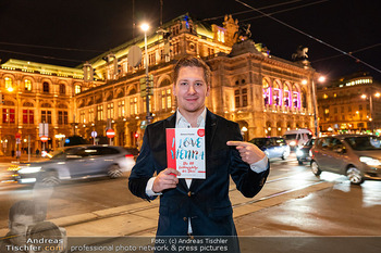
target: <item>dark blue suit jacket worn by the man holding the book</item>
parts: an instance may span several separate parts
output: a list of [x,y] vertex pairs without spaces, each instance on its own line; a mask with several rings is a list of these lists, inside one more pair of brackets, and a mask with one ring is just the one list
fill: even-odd
[[[140,154],[132,169],[128,187],[143,199],[147,181],[155,173],[167,168],[165,128],[175,127],[175,114],[146,128]],[[193,179],[190,188],[180,179],[174,189],[164,190],[160,197],[157,236],[186,236],[188,217],[195,236],[236,236],[229,199],[230,176],[236,188],[253,198],[262,188],[269,169],[255,173],[241,160],[229,140],[242,140],[239,126],[207,111],[206,116],[206,179]]]

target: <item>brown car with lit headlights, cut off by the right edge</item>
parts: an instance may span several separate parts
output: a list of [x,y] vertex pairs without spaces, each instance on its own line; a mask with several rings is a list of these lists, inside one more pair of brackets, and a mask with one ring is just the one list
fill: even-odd
[[319,138],[311,149],[315,175],[331,172],[346,175],[352,184],[381,179],[381,138],[367,135],[341,135]]

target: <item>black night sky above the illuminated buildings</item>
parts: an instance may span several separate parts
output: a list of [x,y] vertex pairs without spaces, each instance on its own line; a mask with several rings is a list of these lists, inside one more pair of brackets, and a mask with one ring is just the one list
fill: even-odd
[[[290,28],[235,0],[163,0],[163,22],[186,12],[221,25],[225,14],[251,24],[251,39],[286,60],[299,45],[309,61],[334,79],[358,71],[381,80],[380,7],[376,0],[242,0]],[[133,38],[132,0],[0,0],[0,59],[77,66]],[[239,13],[250,11],[246,13]],[[216,18],[213,18],[216,17]],[[135,18],[159,26],[160,0],[135,0]],[[135,36],[142,31],[135,30]],[[311,39],[310,36],[366,64]],[[38,47],[36,47],[38,46]],[[373,69],[373,68],[376,69]]]

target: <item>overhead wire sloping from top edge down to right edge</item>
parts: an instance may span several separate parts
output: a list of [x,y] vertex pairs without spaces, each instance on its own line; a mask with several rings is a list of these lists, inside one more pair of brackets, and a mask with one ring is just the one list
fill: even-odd
[[319,43],[322,43],[322,45],[324,45],[324,46],[327,46],[327,47],[329,47],[329,48],[331,48],[331,49],[333,49],[333,50],[335,50],[335,51],[339,51],[339,52],[341,52],[341,53],[343,53],[343,54],[345,54],[345,55],[347,55],[347,56],[349,56],[349,58],[353,58],[353,59],[355,59],[356,61],[362,63],[364,65],[366,65],[366,66],[372,68],[373,71],[377,71],[377,72],[381,73],[381,69],[379,69],[379,68],[377,68],[377,67],[370,65],[369,63],[364,62],[362,60],[360,60],[360,59],[358,59],[358,58],[356,58],[356,56],[354,56],[354,55],[352,55],[352,54],[345,52],[344,50],[341,50],[341,49],[339,49],[339,48],[336,48],[336,47],[334,47],[334,46],[332,46],[332,45],[330,45],[330,43],[327,43],[327,42],[322,41],[321,39],[318,39],[318,38],[316,38],[316,37],[309,35],[309,34],[307,34],[307,33],[305,33],[305,31],[303,31],[303,30],[300,30],[300,29],[298,29],[298,28],[296,28],[296,27],[294,27],[294,26],[292,26],[292,25],[288,25],[287,23],[284,23],[283,21],[280,21],[280,20],[278,20],[278,18],[275,18],[275,17],[273,17],[273,16],[271,16],[271,15],[269,15],[269,14],[267,14],[267,13],[265,13],[265,12],[262,12],[262,11],[260,11],[260,10],[258,10],[258,9],[256,9],[256,8],[249,5],[249,4],[247,4],[247,3],[245,3],[245,2],[243,2],[243,1],[241,1],[241,0],[234,0],[234,1],[236,1],[236,2],[238,2],[238,3],[241,3],[241,4],[243,4],[243,5],[245,5],[245,7],[249,8],[249,9],[251,9],[251,10],[254,10],[254,11],[256,11],[256,12],[258,12],[258,13],[260,13],[260,14],[262,14],[262,15],[265,15],[265,16],[267,16],[267,17],[269,17],[269,18],[271,18],[271,20],[273,20],[273,21],[275,21],[275,22],[278,22],[278,23],[280,23],[280,24],[282,24],[282,25],[284,25],[284,26],[286,26],[286,27],[288,27],[288,28],[291,28],[291,29],[293,29],[293,30],[295,30],[295,31],[297,31],[297,33],[299,33],[299,34],[302,34],[302,35],[305,35],[305,36],[307,36],[307,37],[310,38],[310,39],[314,39],[314,40],[316,40],[316,41],[319,42]]

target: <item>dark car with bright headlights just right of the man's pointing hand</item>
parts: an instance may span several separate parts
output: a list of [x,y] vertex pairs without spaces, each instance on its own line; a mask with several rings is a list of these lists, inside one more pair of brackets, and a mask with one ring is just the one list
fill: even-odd
[[269,159],[285,160],[290,155],[290,147],[282,137],[254,138],[250,142],[263,151]]

